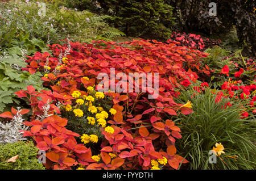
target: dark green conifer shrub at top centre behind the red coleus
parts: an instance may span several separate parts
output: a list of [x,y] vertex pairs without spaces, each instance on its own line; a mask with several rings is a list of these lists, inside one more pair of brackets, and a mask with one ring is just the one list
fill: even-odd
[[119,28],[127,36],[164,40],[171,36],[170,28],[174,25],[173,8],[163,0],[97,2],[101,7],[100,10],[112,16],[109,22],[113,22],[115,28]]

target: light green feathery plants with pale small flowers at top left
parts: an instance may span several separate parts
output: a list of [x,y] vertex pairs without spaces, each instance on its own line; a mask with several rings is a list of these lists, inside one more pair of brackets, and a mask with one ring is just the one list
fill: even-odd
[[19,54],[26,49],[27,55],[47,52],[47,44],[60,40],[89,42],[92,40],[111,41],[125,35],[105,23],[108,16],[98,16],[89,11],[67,9],[62,1],[46,3],[46,13],[40,15],[36,1],[9,1],[0,4],[0,54]]

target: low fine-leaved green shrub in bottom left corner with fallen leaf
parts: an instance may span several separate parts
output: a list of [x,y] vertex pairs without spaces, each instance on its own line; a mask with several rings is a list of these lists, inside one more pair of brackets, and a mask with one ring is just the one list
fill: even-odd
[[[42,163],[38,163],[36,155],[39,149],[32,142],[19,141],[13,144],[0,145],[0,170],[44,170]],[[15,162],[7,160],[19,155]]]

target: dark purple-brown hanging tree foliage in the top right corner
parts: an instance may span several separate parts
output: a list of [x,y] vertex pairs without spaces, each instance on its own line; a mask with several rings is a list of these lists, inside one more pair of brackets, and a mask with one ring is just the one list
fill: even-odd
[[[209,16],[210,2],[217,4],[217,16]],[[179,28],[185,32],[197,31],[213,35],[236,26],[240,45],[244,42],[247,45],[243,53],[255,57],[254,0],[168,0],[166,3],[175,7],[174,16]]]

